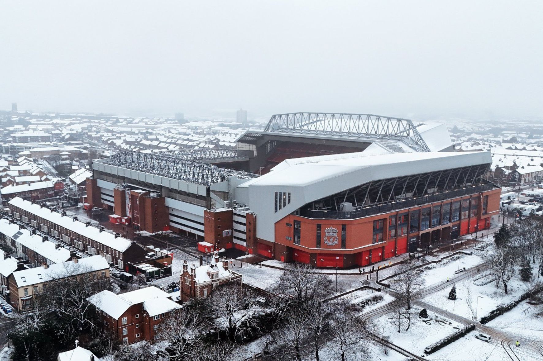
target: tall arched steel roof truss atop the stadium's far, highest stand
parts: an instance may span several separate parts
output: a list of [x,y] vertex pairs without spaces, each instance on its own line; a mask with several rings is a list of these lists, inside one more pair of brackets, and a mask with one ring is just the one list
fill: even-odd
[[264,132],[338,136],[367,140],[399,140],[420,152],[428,145],[409,119],[374,114],[287,113],[271,116]]

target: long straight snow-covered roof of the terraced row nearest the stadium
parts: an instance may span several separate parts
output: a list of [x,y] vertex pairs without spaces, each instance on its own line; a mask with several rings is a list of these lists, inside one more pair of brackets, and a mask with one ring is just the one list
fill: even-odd
[[[32,183],[36,184],[36,183]],[[24,186],[24,185],[22,185]],[[4,187],[5,188],[5,187]],[[102,231],[96,227],[87,227],[85,223],[74,221],[68,216],[62,216],[58,212],[52,212],[47,208],[41,208],[39,204],[33,204],[29,201],[23,200],[21,197],[15,197],[9,201],[9,204],[15,205],[15,207],[29,211],[32,214],[35,214],[45,220],[59,224],[61,227],[70,229],[81,236],[90,238],[98,243],[104,244],[106,247],[116,249],[119,252],[124,252],[130,247],[130,241],[127,238],[117,237],[115,235]]]

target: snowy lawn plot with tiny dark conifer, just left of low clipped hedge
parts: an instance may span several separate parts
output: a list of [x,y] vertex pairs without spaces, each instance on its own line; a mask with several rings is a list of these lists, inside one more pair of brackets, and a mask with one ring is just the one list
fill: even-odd
[[[419,319],[420,307],[413,307],[413,311],[416,312],[412,321],[409,331],[405,331],[405,326],[402,326],[401,332],[398,332],[398,326],[393,325],[394,313],[386,314],[378,318],[376,322],[376,329],[381,331],[383,336],[389,336],[390,341],[395,345],[403,347],[415,354],[424,354],[424,349],[431,344],[439,341],[451,333],[456,332],[463,327],[453,320],[444,319],[443,317],[428,311],[428,317],[430,320],[428,323]],[[438,322],[437,320],[445,320],[449,323]]]

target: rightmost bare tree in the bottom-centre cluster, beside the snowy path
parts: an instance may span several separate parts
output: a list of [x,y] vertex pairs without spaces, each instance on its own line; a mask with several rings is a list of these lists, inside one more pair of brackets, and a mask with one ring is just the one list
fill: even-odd
[[334,307],[330,321],[331,343],[335,346],[342,361],[345,361],[346,357],[360,354],[366,349],[362,341],[368,337],[366,328],[372,328],[369,323],[363,326],[361,321],[357,319],[355,311],[356,308],[349,302],[339,301]]

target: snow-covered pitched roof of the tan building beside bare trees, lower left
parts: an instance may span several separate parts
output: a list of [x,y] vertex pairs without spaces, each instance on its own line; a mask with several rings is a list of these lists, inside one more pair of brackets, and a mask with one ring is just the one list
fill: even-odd
[[109,269],[109,264],[104,257],[91,256],[82,258],[77,262],[55,263],[47,268],[41,266],[15,271],[13,278],[18,287],[23,287],[105,269]]

